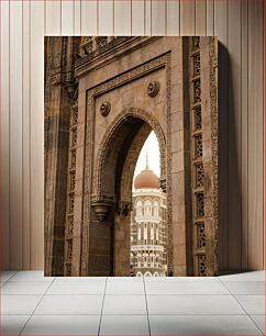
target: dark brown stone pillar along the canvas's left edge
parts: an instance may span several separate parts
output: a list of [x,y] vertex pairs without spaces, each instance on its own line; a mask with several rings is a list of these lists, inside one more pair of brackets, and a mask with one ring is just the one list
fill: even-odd
[[75,42],[45,37],[45,275],[63,276]]

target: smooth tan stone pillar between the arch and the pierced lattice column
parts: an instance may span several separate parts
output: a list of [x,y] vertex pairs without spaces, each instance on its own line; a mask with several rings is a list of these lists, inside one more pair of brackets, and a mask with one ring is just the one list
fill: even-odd
[[167,206],[167,211],[173,213],[173,276],[188,276],[192,268],[188,42],[188,37],[177,40],[177,54],[171,59],[171,209]]

